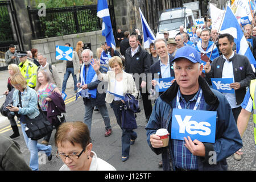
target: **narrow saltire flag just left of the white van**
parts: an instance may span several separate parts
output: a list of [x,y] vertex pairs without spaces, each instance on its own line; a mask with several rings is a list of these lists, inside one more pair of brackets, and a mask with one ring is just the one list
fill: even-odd
[[155,35],[151,31],[150,27],[147,24],[146,19],[144,18],[141,9],[139,8],[139,14],[141,14],[141,26],[143,32],[143,42],[144,48],[150,48],[150,44],[155,42]]

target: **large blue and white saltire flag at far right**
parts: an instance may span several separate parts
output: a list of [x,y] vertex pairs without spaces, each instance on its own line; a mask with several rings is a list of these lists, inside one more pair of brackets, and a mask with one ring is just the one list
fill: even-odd
[[256,64],[256,61],[254,59],[253,53],[251,53],[241,27],[237,22],[236,16],[233,14],[229,6],[226,7],[226,13],[220,28],[220,34],[225,33],[234,37],[234,42],[237,45],[237,53],[244,55],[249,59],[251,67],[253,67],[253,71],[255,72],[254,65]]

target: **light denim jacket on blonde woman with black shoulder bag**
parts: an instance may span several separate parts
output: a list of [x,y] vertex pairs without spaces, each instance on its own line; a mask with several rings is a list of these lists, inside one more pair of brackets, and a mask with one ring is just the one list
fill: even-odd
[[[34,119],[39,115],[38,110],[38,94],[34,89],[29,86],[21,94],[22,107],[19,107],[18,114],[27,115],[29,118]],[[19,104],[19,90],[14,90],[13,93],[13,106]],[[14,112],[11,112],[14,114]]]

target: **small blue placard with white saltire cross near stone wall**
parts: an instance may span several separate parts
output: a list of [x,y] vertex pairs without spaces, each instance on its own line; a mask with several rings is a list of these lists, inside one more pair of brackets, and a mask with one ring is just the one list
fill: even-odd
[[56,60],[72,61],[73,47],[56,46]]

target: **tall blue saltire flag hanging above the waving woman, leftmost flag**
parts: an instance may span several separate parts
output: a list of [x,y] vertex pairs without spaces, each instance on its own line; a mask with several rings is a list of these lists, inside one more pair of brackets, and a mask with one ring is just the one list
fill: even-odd
[[108,46],[115,50],[115,38],[107,0],[98,0],[97,16],[98,18],[102,18],[102,36],[105,36]]

